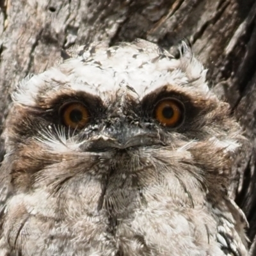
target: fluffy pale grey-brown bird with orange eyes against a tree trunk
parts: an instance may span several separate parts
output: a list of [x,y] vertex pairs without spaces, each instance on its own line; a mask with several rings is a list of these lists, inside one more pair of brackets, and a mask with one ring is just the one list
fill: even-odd
[[12,93],[0,255],[245,256],[228,195],[243,145],[191,45],[72,47]]

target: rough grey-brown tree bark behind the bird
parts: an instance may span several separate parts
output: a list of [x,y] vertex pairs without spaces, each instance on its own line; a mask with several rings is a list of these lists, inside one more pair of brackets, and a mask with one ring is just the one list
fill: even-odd
[[[253,242],[255,16],[255,0],[0,0],[0,124],[8,115],[15,85],[53,65],[61,49],[144,38],[175,54],[180,38],[189,38],[196,56],[209,68],[211,86],[230,103],[248,138],[234,163],[230,194],[246,213]],[[256,244],[251,251],[256,255]]]

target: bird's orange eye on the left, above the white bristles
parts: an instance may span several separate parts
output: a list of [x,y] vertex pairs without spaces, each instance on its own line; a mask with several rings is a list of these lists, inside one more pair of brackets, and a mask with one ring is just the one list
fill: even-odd
[[88,124],[89,113],[83,104],[72,102],[61,109],[61,118],[66,126],[81,129]]

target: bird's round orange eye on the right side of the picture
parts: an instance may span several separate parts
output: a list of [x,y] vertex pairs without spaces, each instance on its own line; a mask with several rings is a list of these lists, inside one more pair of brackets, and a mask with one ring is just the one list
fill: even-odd
[[184,105],[177,99],[163,99],[156,104],[154,114],[161,125],[177,127],[184,120]]

